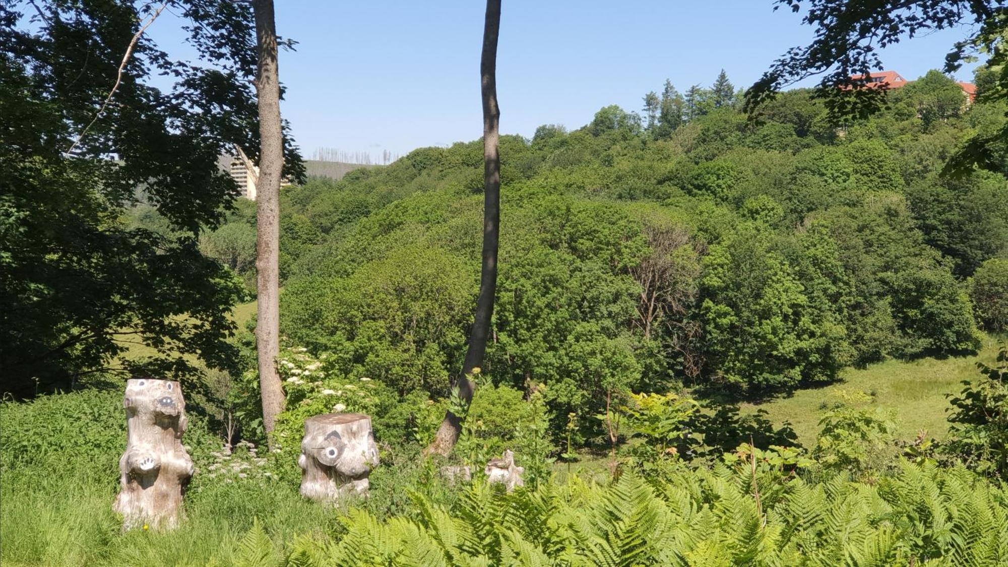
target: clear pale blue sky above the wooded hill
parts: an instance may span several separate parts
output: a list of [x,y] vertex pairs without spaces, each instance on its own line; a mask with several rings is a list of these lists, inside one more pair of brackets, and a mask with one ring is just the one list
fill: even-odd
[[[798,15],[772,8],[771,0],[503,0],[501,131],[578,128],[609,104],[639,111],[665,78],[682,92],[710,85],[724,68],[748,87],[811,37]],[[298,41],[280,54],[281,110],[303,154],[329,146],[379,157],[482,135],[484,9],[481,0],[276,2],[277,32]],[[883,61],[913,80],[939,69],[965,34],[904,41]],[[959,74],[971,77],[971,69]]]

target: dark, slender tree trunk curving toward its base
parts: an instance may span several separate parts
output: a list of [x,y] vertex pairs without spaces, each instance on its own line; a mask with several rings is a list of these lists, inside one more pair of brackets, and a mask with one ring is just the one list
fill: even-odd
[[[501,27],[501,0],[487,0],[487,15],[483,26],[483,56],[480,76],[483,95],[483,264],[480,271],[480,296],[476,316],[469,336],[469,349],[462,374],[455,385],[459,396],[468,405],[473,401],[475,384],[470,376],[473,368],[483,364],[490,335],[490,320],[494,315],[494,295],[497,292],[497,241],[500,224],[501,159],[497,151],[500,138],[500,109],[497,107],[497,36]],[[459,440],[463,416],[449,411],[426,454],[447,455]]]

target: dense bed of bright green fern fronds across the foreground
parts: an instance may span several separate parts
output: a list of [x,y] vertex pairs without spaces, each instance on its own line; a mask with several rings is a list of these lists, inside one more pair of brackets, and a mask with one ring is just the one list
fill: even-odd
[[[757,505],[757,491],[773,496]],[[348,512],[338,541],[298,539],[286,565],[1008,565],[1008,494],[962,467],[904,463],[875,484],[847,474],[754,482],[715,467],[512,493],[474,482],[452,506],[412,499],[408,517]],[[268,565],[271,554],[256,523],[233,563]]]

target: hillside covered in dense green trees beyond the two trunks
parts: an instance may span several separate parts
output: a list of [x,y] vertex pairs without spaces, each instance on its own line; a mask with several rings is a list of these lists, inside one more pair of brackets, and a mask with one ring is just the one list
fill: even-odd
[[[644,103],[643,116],[609,106],[577,130],[502,138],[493,382],[545,384],[556,415],[594,413],[607,392],[759,393],[966,353],[978,325],[1004,325],[991,298],[1008,286],[1008,184],[942,175],[967,136],[1001,126],[1001,103],[971,107],[938,72],[849,126],[802,90],[748,120],[724,74]],[[400,395],[448,395],[478,285],[481,191],[479,141],[287,188],[289,343]],[[205,250],[250,270],[253,226],[242,208]],[[228,255],[234,233],[246,240]]]

